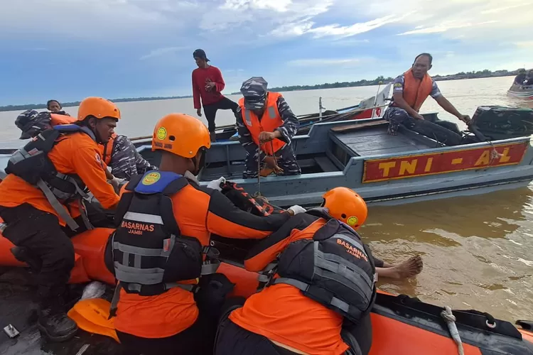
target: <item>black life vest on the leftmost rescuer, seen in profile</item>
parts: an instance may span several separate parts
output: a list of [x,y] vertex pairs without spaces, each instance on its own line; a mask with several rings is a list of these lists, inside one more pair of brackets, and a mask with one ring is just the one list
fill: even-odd
[[[80,201],[81,198],[87,198],[84,191],[86,186],[77,175],[58,173],[52,160],[48,158],[48,153],[58,143],[58,138],[62,134],[75,132],[83,132],[96,141],[95,134],[87,127],[77,124],[57,125],[52,129],[41,131],[26,143],[26,146],[13,153],[6,167],[6,173],[14,174],[41,189],[55,212],[58,212],[72,230],[76,230],[79,226],[65,211],[62,204],[72,202],[76,198]],[[86,217],[85,212],[82,213],[82,217]],[[87,219],[84,218],[84,222],[88,229],[92,228]]]

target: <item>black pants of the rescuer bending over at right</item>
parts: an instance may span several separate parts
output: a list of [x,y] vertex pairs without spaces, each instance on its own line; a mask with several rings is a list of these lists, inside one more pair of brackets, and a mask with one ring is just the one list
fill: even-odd
[[[215,341],[215,355],[293,355],[293,351],[277,346],[262,335],[249,332],[227,318],[222,320]],[[348,322],[345,322],[348,323]],[[347,355],[367,355],[372,346],[372,323],[370,315],[357,325],[346,324],[340,333],[350,349]]]

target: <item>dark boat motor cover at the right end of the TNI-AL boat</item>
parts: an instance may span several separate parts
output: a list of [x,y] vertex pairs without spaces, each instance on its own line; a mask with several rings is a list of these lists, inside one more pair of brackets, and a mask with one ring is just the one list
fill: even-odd
[[472,124],[488,139],[508,139],[533,134],[533,109],[480,106]]

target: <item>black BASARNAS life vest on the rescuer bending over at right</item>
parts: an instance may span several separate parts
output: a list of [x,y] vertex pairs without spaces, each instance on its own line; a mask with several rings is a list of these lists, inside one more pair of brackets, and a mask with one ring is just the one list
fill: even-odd
[[268,285],[286,283],[303,295],[357,324],[370,312],[376,297],[375,265],[359,234],[324,209],[309,214],[327,219],[313,239],[294,241],[278,258],[280,277]]

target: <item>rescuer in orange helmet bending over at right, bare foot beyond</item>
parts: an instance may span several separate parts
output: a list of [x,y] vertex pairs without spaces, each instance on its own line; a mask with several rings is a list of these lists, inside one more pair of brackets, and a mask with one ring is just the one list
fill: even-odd
[[291,218],[249,251],[245,268],[269,271],[269,281],[222,320],[215,355],[370,351],[375,263],[355,231],[367,206],[346,187],[323,198],[322,209]]

